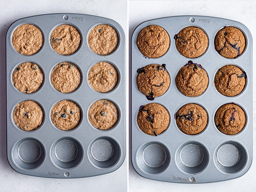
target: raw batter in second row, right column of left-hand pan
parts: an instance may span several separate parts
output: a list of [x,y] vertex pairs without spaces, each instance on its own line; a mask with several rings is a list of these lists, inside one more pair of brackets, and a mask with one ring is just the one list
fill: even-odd
[[90,86],[98,92],[111,91],[117,84],[117,71],[108,62],[99,62],[92,66],[88,74]]

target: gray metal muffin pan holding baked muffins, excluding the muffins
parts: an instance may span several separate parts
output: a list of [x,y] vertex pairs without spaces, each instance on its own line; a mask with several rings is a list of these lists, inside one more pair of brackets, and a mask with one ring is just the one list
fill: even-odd
[[[149,25],[159,25],[169,34],[170,47],[162,57],[147,58],[138,49],[137,35]],[[206,52],[194,59],[182,56],[175,46],[174,35],[188,26],[203,29],[209,39]],[[224,58],[215,50],[215,35],[224,26],[237,27],[246,37],[245,51],[235,59]],[[133,32],[131,57],[131,160],[136,172],[148,179],[172,183],[211,183],[245,174],[252,163],[252,37],[247,27],[236,21],[207,16],[149,20],[138,25]],[[202,65],[209,77],[206,91],[197,97],[183,95],[175,84],[178,71],[189,60]],[[171,79],[167,92],[153,101],[138,90],[136,83],[137,69],[149,64],[166,64]],[[247,75],[245,89],[234,97],[223,96],[214,85],[217,70],[226,64],[240,67]],[[139,107],[151,102],[163,105],[170,114],[168,128],[157,136],[145,134],[137,124]],[[208,114],[206,128],[197,135],[181,132],[174,119],[178,109],[187,103],[203,106]],[[214,122],[217,109],[226,103],[238,104],[246,113],[246,125],[235,135],[221,133]]]

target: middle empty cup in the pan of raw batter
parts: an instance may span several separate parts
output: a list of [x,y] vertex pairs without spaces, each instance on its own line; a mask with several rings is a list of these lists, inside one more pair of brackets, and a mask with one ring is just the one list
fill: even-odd
[[61,169],[75,168],[83,158],[82,145],[72,137],[62,137],[51,147],[51,160]]

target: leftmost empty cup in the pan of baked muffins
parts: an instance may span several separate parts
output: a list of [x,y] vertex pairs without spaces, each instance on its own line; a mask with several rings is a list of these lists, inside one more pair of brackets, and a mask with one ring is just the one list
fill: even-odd
[[136,155],[138,167],[147,174],[159,174],[170,163],[170,152],[165,145],[157,141],[142,145]]

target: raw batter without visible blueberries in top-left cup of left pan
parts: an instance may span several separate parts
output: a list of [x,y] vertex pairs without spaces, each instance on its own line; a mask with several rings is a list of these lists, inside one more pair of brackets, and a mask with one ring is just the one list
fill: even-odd
[[36,26],[24,24],[19,26],[12,34],[12,45],[22,55],[33,55],[43,45],[43,34]]

